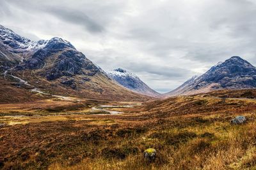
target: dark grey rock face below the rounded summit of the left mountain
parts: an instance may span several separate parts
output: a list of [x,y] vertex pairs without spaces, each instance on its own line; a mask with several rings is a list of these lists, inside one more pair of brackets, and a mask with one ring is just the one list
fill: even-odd
[[[60,47],[60,46],[59,46]],[[55,56],[55,59],[51,59]],[[51,60],[51,63],[47,63]],[[45,67],[51,65],[51,67]],[[75,74],[86,74],[93,76],[100,71],[85,55],[73,48],[57,48],[57,51],[49,50],[47,46],[36,51],[31,58],[25,60],[15,69],[44,69],[41,73],[47,80],[55,80],[61,76],[74,76]]]

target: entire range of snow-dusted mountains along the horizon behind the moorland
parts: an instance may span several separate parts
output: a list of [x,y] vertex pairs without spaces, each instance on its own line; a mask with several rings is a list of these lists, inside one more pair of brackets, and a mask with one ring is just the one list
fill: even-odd
[[29,101],[44,94],[145,101],[152,97],[256,88],[256,68],[234,56],[201,76],[193,76],[177,89],[159,94],[125,69],[106,73],[65,39],[31,41],[2,25],[0,74],[0,102]]

